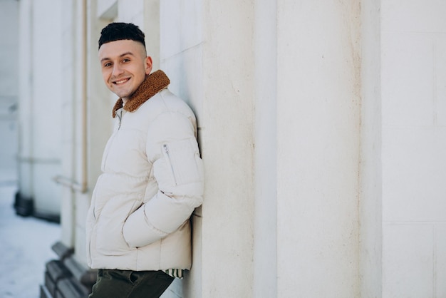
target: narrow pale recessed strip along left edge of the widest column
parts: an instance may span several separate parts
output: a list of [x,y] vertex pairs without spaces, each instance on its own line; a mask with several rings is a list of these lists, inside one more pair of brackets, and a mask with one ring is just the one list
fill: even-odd
[[276,1],[256,1],[254,12],[254,297],[278,297]]

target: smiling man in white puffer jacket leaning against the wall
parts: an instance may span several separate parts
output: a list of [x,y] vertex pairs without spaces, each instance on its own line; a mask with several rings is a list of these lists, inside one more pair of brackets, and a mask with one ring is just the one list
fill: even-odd
[[195,115],[152,71],[145,35],[112,23],[99,38],[103,80],[119,99],[87,215],[90,297],[160,297],[191,267],[190,215],[202,204]]

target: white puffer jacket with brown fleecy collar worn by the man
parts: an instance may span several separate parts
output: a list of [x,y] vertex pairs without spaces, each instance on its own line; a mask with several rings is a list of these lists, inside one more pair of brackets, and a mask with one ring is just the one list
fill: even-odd
[[98,269],[190,269],[190,215],[202,204],[195,115],[148,76],[124,108],[104,150],[87,215],[88,265]]

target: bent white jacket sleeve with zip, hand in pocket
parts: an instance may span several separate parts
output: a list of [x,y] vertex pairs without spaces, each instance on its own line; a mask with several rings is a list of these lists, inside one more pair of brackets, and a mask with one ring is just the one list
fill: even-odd
[[195,131],[195,118],[182,113],[162,113],[150,125],[146,153],[159,190],[124,223],[131,247],[166,237],[202,204],[204,175]]

